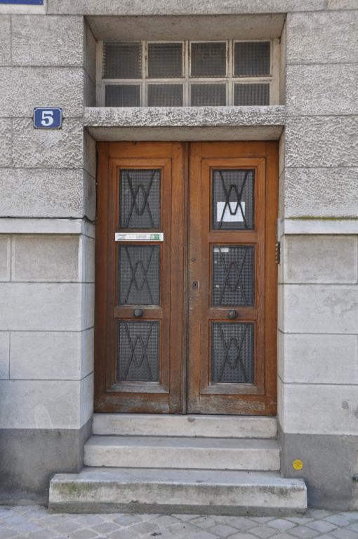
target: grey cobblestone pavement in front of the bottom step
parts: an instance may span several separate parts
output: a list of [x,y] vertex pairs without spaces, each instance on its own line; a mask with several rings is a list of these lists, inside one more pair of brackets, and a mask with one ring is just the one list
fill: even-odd
[[356,539],[358,512],[309,510],[302,517],[195,514],[49,514],[0,506],[0,539]]

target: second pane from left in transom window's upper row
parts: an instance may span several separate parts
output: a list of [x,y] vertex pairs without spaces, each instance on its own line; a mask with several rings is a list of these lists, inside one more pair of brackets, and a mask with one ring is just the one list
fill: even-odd
[[148,44],[148,76],[150,79],[183,76],[183,44]]

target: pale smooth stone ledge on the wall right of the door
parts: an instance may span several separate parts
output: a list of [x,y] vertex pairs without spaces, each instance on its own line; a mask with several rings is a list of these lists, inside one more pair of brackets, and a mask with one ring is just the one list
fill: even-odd
[[282,234],[358,234],[357,219],[284,219]]

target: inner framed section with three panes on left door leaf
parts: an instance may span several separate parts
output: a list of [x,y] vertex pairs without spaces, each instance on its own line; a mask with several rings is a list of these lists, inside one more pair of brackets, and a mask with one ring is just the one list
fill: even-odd
[[[169,392],[170,243],[114,241],[116,232],[163,232],[165,239],[171,236],[168,211],[157,211],[156,215],[146,201],[154,178],[160,183],[156,193],[159,201],[154,200],[154,206],[163,207],[166,201],[170,206],[171,159],[111,159],[109,189],[113,199],[109,211],[107,240],[110,265],[107,279],[114,293],[108,298],[107,358],[110,364],[106,387],[107,390],[124,393],[126,406],[131,406],[128,394],[139,394],[133,397],[136,406],[138,401],[143,401],[145,406],[153,406],[159,404],[158,401],[165,401],[162,394]],[[124,187],[119,188],[123,182],[128,194],[126,205],[120,193]],[[131,189],[127,188],[127,183]],[[135,220],[142,226],[136,225]],[[157,258],[157,265],[154,258]],[[154,267],[151,268],[151,264]],[[119,274],[120,269],[123,275]],[[147,276],[150,271],[157,273],[158,284],[149,283]],[[126,277],[129,282],[121,298],[120,288]],[[152,288],[157,287],[159,297],[153,298]],[[131,298],[131,295],[137,297]],[[146,295],[150,298],[145,298]],[[143,313],[140,319],[135,317],[135,308]],[[117,361],[113,361],[114,357]],[[148,396],[143,397],[142,394]]]

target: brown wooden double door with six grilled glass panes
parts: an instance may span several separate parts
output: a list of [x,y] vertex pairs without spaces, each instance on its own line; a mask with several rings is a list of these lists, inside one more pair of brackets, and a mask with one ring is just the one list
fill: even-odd
[[98,154],[95,410],[276,413],[277,144]]

